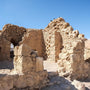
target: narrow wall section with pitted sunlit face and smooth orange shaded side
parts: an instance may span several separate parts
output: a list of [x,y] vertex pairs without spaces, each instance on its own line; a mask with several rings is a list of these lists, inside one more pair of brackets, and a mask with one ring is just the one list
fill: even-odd
[[43,36],[46,47],[47,60],[57,62],[59,58],[59,53],[62,48],[62,36],[61,34],[53,28],[45,28],[43,30]]

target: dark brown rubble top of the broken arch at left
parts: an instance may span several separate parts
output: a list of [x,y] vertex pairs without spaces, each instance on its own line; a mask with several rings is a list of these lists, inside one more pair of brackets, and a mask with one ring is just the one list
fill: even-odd
[[26,29],[12,24],[6,24],[2,30],[2,37],[13,43],[14,46],[18,45]]

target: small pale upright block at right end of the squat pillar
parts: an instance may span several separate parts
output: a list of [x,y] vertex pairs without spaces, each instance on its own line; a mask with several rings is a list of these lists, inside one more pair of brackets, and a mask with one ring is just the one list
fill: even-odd
[[36,58],[36,72],[43,71],[43,58],[42,57],[37,57]]

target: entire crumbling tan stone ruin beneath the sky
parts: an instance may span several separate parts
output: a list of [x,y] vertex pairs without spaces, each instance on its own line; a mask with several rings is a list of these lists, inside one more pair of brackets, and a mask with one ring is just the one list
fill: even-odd
[[39,30],[6,24],[0,32],[0,63],[13,61],[13,68],[1,69],[0,90],[45,86],[48,73],[43,67],[44,60],[56,62],[60,76],[90,79],[85,40],[63,18],[54,19]]

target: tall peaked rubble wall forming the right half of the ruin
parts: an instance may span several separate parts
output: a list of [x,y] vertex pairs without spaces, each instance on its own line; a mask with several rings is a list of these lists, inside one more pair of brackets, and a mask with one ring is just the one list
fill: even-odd
[[[44,39],[47,46],[47,40],[51,35],[51,40],[55,40],[55,33],[59,32],[62,37],[62,43],[57,38],[61,48],[59,48],[59,59],[58,62],[58,72],[62,76],[71,76],[72,79],[84,79],[89,76],[88,70],[89,66],[84,61],[84,35],[79,34],[78,30],[73,31],[73,28],[69,23],[65,22],[63,18],[54,19],[48,24],[48,26],[43,31]],[[50,43],[51,44],[51,43]],[[51,53],[55,53],[55,42],[52,41],[53,49],[50,51],[46,48],[46,51],[49,51],[48,56],[51,56]],[[56,53],[55,53],[56,54]],[[55,61],[55,56],[51,56],[51,60]],[[79,67],[78,67],[79,66]]]

